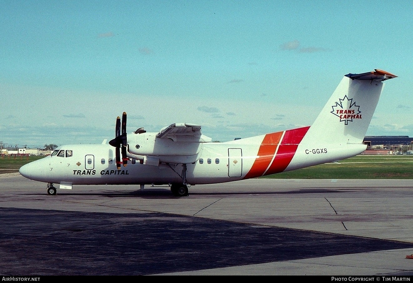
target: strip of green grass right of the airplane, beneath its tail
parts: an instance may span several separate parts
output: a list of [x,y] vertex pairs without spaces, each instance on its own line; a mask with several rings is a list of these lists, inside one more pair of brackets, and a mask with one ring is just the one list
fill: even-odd
[[411,155],[358,155],[261,178],[271,179],[413,179]]

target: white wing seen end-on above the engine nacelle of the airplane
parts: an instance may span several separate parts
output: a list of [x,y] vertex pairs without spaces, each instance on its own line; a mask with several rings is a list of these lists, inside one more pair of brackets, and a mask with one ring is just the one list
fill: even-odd
[[201,126],[189,123],[175,123],[166,126],[157,133],[156,137],[189,143],[209,143],[212,140],[201,133]]

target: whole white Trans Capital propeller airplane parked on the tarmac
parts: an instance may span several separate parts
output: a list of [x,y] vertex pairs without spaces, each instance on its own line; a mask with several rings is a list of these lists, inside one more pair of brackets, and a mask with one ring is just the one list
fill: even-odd
[[126,133],[126,113],[116,119],[116,135],[106,144],[62,145],[50,156],[19,170],[47,182],[47,194],[73,185],[169,185],[174,196],[188,187],[257,178],[346,159],[366,150],[363,138],[382,92],[397,77],[375,69],[345,75],[311,126],[211,142],[201,126],[176,123],[149,133]]

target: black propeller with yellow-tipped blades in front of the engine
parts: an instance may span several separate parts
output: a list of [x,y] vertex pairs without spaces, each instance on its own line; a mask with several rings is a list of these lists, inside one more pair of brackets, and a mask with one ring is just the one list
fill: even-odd
[[118,116],[116,118],[115,138],[109,141],[109,145],[116,147],[116,167],[118,170],[121,168],[121,164],[123,164],[123,167],[126,167],[129,160],[126,156],[126,147],[128,146],[128,140],[126,138],[126,112],[122,114],[122,123],[121,117]]

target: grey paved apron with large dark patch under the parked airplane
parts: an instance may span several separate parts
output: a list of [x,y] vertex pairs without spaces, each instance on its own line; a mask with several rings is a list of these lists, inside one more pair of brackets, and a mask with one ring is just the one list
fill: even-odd
[[45,185],[0,174],[1,275],[413,275],[413,180]]

